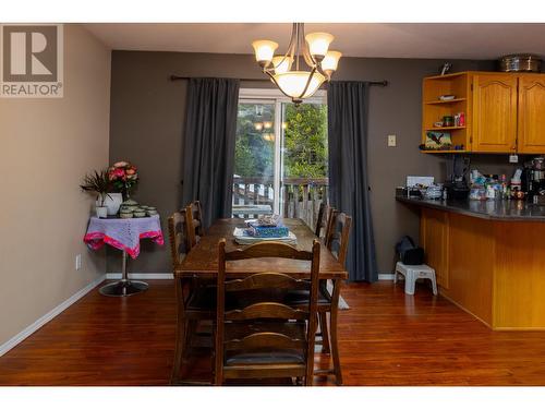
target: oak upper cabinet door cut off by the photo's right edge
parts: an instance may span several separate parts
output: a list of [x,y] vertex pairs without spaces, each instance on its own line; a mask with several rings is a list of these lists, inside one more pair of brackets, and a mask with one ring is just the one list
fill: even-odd
[[541,75],[519,79],[518,152],[545,153],[545,79]]

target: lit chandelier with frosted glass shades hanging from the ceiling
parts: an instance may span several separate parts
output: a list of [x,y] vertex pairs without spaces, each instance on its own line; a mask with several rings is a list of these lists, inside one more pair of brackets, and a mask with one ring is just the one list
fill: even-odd
[[304,23],[293,23],[290,44],[283,56],[275,56],[278,48],[275,41],[261,39],[253,41],[252,46],[263,72],[299,105],[304,98],[313,96],[323,83],[330,81],[337,70],[342,55],[329,50],[332,40],[334,36],[328,33],[305,36]]

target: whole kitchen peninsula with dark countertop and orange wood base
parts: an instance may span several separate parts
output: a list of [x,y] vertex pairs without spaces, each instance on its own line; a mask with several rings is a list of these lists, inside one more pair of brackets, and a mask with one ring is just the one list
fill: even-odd
[[545,206],[396,196],[420,209],[439,292],[493,329],[545,330]]

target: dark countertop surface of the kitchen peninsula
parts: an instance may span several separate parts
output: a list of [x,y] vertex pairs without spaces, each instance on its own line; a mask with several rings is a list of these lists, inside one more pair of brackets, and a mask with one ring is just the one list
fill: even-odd
[[396,196],[398,202],[458,213],[460,215],[479,217],[487,220],[501,221],[542,221],[545,222],[545,205],[526,201],[470,201],[470,200],[428,200],[407,196]]

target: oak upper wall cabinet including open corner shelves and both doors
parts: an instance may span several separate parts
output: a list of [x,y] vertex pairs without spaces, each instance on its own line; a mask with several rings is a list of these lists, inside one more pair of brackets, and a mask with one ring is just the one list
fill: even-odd
[[[448,94],[455,100],[435,103]],[[462,72],[427,77],[423,100],[423,144],[434,130],[449,132],[459,152],[545,153],[545,74]],[[455,112],[464,113],[463,127],[431,127]]]

